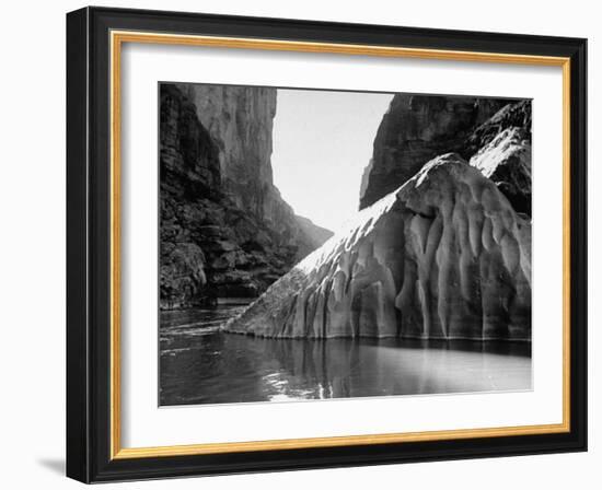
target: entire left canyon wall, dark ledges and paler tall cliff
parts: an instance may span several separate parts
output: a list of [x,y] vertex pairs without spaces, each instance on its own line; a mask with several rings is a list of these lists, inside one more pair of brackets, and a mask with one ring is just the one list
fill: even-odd
[[271,177],[276,91],[161,85],[160,305],[254,298],[332,234]]

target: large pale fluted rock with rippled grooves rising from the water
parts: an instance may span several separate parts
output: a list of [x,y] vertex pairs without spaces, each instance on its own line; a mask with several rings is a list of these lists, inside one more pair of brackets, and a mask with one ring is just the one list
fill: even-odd
[[362,210],[224,329],[529,339],[531,224],[491,180],[445,154]]

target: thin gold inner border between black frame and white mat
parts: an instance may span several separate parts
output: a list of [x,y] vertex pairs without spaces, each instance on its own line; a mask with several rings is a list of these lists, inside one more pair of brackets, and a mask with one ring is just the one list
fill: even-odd
[[[332,438],[186,444],[154,447],[121,447],[120,404],[120,55],[124,43],[225,47],[279,51],[419,58],[452,61],[554,66],[563,69],[563,422],[483,429],[403,432]],[[548,434],[570,431],[570,59],[563,57],[510,55],[333,43],[111,32],[111,458],[182,456],[248,451],[335,447],[452,439]]]

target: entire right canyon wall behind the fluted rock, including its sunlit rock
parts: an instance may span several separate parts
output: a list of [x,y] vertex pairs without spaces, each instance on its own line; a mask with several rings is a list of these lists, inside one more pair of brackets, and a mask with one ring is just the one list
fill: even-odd
[[364,168],[360,209],[437,155],[458,152],[531,217],[531,101],[397,94]]

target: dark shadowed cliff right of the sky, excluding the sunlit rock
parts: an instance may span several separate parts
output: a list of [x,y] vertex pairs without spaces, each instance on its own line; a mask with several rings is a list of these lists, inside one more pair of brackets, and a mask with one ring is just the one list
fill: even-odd
[[510,100],[396,94],[377,131],[362,177],[360,209],[392,192],[437,155],[459,152],[466,139]]

